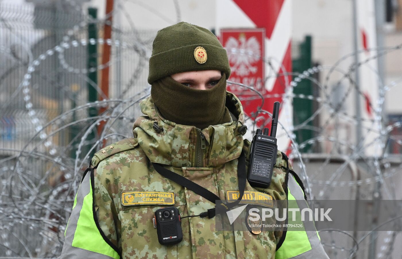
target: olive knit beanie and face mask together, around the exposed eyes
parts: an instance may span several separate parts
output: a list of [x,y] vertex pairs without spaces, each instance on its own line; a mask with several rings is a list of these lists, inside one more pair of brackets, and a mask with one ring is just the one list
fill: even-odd
[[[151,96],[165,119],[200,129],[231,121],[225,107],[228,56],[209,30],[181,22],[158,31],[149,67]],[[197,70],[219,70],[222,78],[213,88],[198,90],[170,77]]]

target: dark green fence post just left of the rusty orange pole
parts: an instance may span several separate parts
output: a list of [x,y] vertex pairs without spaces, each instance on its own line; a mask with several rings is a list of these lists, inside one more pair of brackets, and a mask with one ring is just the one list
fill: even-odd
[[[96,19],[97,17],[97,11],[98,9],[96,8],[88,8],[88,15],[92,19]],[[96,28],[96,23],[89,23],[88,24],[88,60],[87,60],[87,76],[89,79],[89,82],[87,83],[88,86],[88,102],[93,103],[98,100],[98,92],[96,91],[94,86],[98,85],[98,48],[97,44],[90,44],[89,40],[90,39],[97,39],[97,28]],[[94,69],[95,68],[95,69]],[[94,69],[94,71],[92,71]],[[88,109],[88,116],[89,117],[94,117],[98,115],[98,110],[96,107],[90,107]],[[92,121],[94,123],[94,121]],[[88,141],[91,143],[95,140],[95,134],[96,134],[96,127],[92,129],[92,132],[88,135]],[[89,148],[88,148],[89,150]],[[88,152],[88,150],[86,152]],[[96,152],[94,150],[90,156],[93,156],[93,154]]]

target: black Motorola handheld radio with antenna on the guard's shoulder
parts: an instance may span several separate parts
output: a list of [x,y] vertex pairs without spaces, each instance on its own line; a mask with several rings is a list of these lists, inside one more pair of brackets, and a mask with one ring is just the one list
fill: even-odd
[[267,188],[271,184],[273,167],[276,162],[278,150],[277,139],[275,138],[278,116],[279,102],[275,102],[272,112],[271,134],[268,134],[268,128],[265,128],[264,132],[261,129],[257,129],[251,142],[247,180],[253,187]]

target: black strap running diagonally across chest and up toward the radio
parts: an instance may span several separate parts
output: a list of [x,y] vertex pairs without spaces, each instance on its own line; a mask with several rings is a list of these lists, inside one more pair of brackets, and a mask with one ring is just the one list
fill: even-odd
[[[154,162],[152,164],[154,165],[155,170],[160,175],[174,181],[175,183],[180,184],[181,186],[186,187],[187,189],[197,193],[198,195],[201,195],[202,197],[211,201],[212,203],[215,203],[217,200],[220,200],[220,198],[215,193],[212,193],[211,191],[205,189],[204,187],[198,185],[197,183],[194,183],[194,182],[190,181],[189,179],[164,168],[160,164],[157,164]],[[221,203],[220,205],[223,206],[226,211],[230,210],[230,208],[233,208],[241,201],[243,194],[244,194],[244,189],[246,189],[246,158],[244,156],[244,152],[241,152],[239,159],[238,159],[237,177],[238,177],[239,192],[240,192],[239,198],[236,201],[233,201],[230,203]],[[209,209],[208,217],[213,218],[214,216],[215,216],[215,208]]]

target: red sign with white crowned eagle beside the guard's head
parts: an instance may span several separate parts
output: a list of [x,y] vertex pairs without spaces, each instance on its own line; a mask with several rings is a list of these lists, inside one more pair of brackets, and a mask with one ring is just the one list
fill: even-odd
[[[263,91],[264,86],[264,41],[265,29],[222,29],[221,43],[229,58],[230,81],[253,86]],[[244,88],[228,86],[228,91],[236,94],[246,94]],[[255,95],[251,90],[246,90]]]

